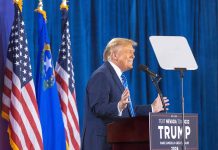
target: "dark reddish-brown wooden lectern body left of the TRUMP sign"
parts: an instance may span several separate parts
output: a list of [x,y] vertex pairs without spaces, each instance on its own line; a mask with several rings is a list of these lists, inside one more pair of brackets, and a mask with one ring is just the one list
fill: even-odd
[[149,150],[149,117],[125,118],[107,126],[113,150]]

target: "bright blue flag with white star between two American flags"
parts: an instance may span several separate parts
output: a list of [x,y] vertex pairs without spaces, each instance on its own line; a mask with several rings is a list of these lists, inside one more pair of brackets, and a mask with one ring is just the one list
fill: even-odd
[[[36,10],[37,11],[37,10]],[[65,130],[46,29],[45,12],[38,12],[36,96],[45,150],[65,150]]]

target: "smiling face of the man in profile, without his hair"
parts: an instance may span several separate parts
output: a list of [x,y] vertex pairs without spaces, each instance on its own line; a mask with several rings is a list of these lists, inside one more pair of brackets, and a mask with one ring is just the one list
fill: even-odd
[[133,68],[133,60],[135,58],[135,50],[132,44],[125,46],[119,46],[115,52],[116,65],[121,69],[122,72]]

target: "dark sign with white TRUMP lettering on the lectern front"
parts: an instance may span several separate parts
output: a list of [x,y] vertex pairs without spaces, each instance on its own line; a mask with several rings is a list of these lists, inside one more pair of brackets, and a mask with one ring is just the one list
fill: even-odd
[[[198,150],[198,115],[185,114],[185,145],[187,150]],[[149,114],[150,150],[182,150],[182,114]]]

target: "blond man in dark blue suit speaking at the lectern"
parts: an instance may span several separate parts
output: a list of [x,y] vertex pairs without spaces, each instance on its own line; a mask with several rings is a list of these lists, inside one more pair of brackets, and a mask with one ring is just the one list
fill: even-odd
[[[106,126],[119,117],[130,117],[130,93],[123,86],[122,73],[132,69],[134,48],[137,43],[124,38],[114,38],[104,50],[104,64],[91,76],[86,88],[86,106],[82,150],[110,150]],[[168,106],[165,98],[165,105]],[[136,116],[160,112],[163,106],[158,96],[151,105],[134,108]]]

